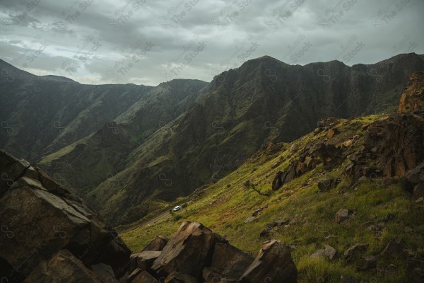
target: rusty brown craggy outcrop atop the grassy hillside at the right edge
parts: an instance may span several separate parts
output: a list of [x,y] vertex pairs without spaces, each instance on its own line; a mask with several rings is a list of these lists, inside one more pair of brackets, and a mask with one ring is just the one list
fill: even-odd
[[364,149],[352,156],[346,173],[358,180],[404,176],[424,161],[424,72],[412,74],[401,96],[398,113],[373,122]]

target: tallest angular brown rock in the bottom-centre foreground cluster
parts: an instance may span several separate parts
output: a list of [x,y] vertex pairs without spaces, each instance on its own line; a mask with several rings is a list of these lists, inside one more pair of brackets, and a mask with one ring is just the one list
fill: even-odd
[[153,262],[152,269],[160,277],[177,271],[200,279],[202,270],[210,264],[216,243],[226,241],[199,222],[184,221]]

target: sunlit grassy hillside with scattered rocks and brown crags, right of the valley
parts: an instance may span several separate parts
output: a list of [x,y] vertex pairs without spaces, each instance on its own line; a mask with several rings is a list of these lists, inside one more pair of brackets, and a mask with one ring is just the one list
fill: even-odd
[[179,199],[181,211],[122,226],[122,238],[137,251],[199,221],[251,255],[270,238],[287,244],[300,283],[423,282],[424,72],[401,101],[399,113],[324,119],[293,142],[264,144]]

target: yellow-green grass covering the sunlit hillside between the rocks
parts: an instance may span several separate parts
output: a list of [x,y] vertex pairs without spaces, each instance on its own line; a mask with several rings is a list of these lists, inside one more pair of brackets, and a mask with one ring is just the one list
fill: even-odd
[[[340,137],[351,138],[358,134],[362,125],[382,117],[341,120],[337,126],[341,133],[328,142],[338,143]],[[338,282],[341,275],[354,275],[367,282],[409,282],[406,277],[406,254],[399,258],[381,257],[377,260],[377,269],[361,272],[356,270],[355,261],[343,258],[344,251],[355,243],[369,245],[362,256],[379,255],[394,238],[401,238],[404,246],[411,252],[424,252],[423,205],[416,204],[406,195],[401,182],[389,187],[384,187],[382,180],[378,179],[351,184],[342,174],[344,165],[332,171],[325,171],[322,166],[317,166],[280,190],[270,190],[277,171],[287,168],[290,161],[297,158],[309,142],[325,139],[326,131],[316,135],[308,134],[292,144],[282,144],[281,150],[276,153],[270,153],[267,149],[259,151],[236,171],[208,185],[201,191],[201,197],[192,195],[192,203],[186,209],[152,226],[126,231],[121,236],[135,252],[141,250],[158,234],[172,236],[183,220],[199,221],[225,236],[237,248],[257,255],[264,241],[259,238],[259,233],[265,225],[288,219],[290,224],[275,227],[271,231],[271,237],[295,246],[292,256],[298,267],[300,283]],[[354,146],[358,149],[360,141]],[[276,163],[279,164],[276,166]],[[343,194],[338,192],[338,188],[319,192],[319,180],[336,176],[341,176],[338,188],[345,188]],[[259,195],[249,188],[252,185],[257,190],[269,192],[271,195]],[[190,197],[187,197],[187,200],[189,199]],[[263,210],[257,221],[245,224],[245,219],[259,207]],[[337,224],[334,214],[342,208],[351,209],[355,213],[347,221]],[[394,219],[384,221],[387,214],[393,214]],[[377,226],[382,222],[384,227],[381,231],[369,229],[371,225]],[[406,233],[406,226],[412,227],[413,232]],[[338,258],[331,261],[310,258],[314,250],[324,248],[326,244],[336,248]],[[395,265],[394,272],[384,272],[385,267],[390,264]]]

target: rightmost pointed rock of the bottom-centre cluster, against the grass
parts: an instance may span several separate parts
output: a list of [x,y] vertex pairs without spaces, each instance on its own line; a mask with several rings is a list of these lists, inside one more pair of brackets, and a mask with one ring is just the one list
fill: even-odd
[[265,282],[295,283],[298,270],[291,258],[290,250],[280,241],[266,241],[257,258],[240,278],[242,283]]

